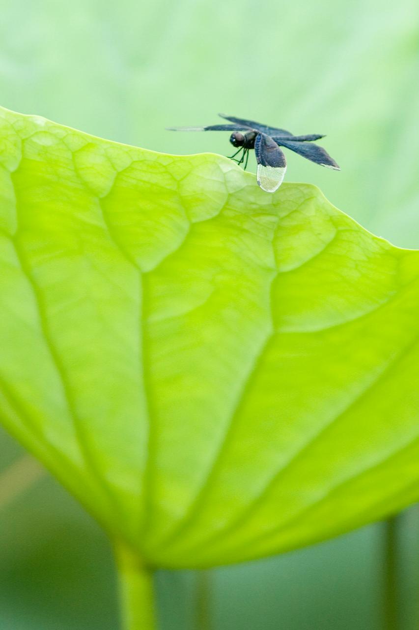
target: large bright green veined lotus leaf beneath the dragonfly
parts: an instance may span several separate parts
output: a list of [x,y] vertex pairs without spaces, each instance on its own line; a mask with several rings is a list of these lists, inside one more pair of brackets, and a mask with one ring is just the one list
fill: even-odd
[[418,498],[417,251],[8,110],[0,164],[1,418],[112,539],[214,566]]

